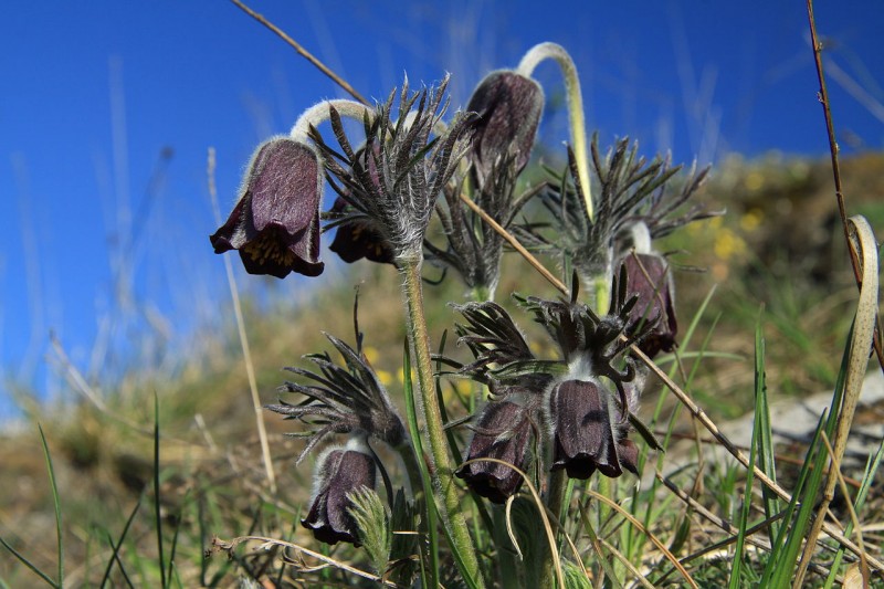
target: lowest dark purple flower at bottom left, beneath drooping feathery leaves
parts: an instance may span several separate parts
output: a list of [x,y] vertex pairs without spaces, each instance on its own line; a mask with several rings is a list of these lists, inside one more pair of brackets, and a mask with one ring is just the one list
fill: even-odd
[[375,459],[360,450],[335,449],[318,463],[313,504],[301,524],[326,544],[349,541],[359,546],[359,529],[350,515],[352,502],[347,497],[360,487],[375,488]]

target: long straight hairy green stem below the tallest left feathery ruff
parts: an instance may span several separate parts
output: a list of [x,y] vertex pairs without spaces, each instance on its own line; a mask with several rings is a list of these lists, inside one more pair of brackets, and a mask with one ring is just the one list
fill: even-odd
[[[478,587],[484,587],[478,570],[473,539],[466,527],[466,519],[461,511],[461,499],[454,485],[454,465],[448,452],[445,430],[442,423],[442,411],[433,379],[433,366],[430,360],[430,336],[423,313],[423,288],[421,285],[421,260],[399,260],[404,278],[404,297],[408,309],[408,335],[418,377],[418,404],[423,409],[423,418],[429,440],[430,476],[433,480],[433,494],[442,523],[451,536],[453,548],[463,558],[465,575],[469,575]],[[425,446],[424,446],[425,448]]]

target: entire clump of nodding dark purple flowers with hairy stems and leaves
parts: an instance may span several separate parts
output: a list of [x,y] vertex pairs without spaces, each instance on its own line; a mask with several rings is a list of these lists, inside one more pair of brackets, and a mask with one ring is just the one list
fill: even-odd
[[[545,99],[532,73],[547,57],[565,74],[571,147],[561,175],[530,187],[523,173]],[[602,155],[594,137],[588,150],[576,69],[558,45],[540,44],[515,70],[490,73],[465,111],[448,118],[446,85],[448,77],[436,87],[412,92],[406,81],[375,107],[329,101],[309,108],[290,136],[257,148],[233,211],[210,240],[215,253],[239,251],[250,273],[316,276],[324,270],[324,222],[322,231],[335,231],[329,249],[345,262],[366,259],[400,272],[417,374],[417,385],[404,386],[402,397],[414,438],[362,354],[358,326],[355,348],[327,336],[343,364],[328,354],[307,355],[314,366],[287,368],[297,378],[282,388],[297,400],[266,408],[306,427],[293,434],[306,439],[298,462],[323,448],[302,519],[316,539],[365,544],[367,551],[381,555],[381,565],[390,556],[383,555],[382,541],[372,546],[366,539],[388,537],[389,529],[367,532],[370,518],[359,504],[368,495],[380,505],[372,494],[378,477],[390,511],[401,503],[393,495],[407,494],[397,493],[376,453],[386,446],[390,452],[380,454],[398,455],[410,477],[402,488],[410,490],[414,503],[399,515],[415,513],[413,505],[421,502],[427,514],[422,522],[402,525],[424,534],[429,530],[421,526],[439,515],[463,557],[462,571],[477,578],[455,476],[475,494],[503,504],[526,477],[548,490],[550,481],[565,475],[639,474],[642,461],[633,433],[659,449],[635,417],[646,377],[636,356],[674,350],[677,322],[671,264],[652,244],[715,213],[687,204],[705,170],[692,171],[672,190],[680,168],[660,158],[646,162],[629,140]],[[356,138],[345,118],[361,123]],[[319,130],[325,122],[332,141]],[[336,198],[320,212],[326,183]],[[533,199],[539,207],[526,209]],[[505,242],[525,252],[516,241],[552,256],[562,274],[573,271],[565,298],[514,295],[557,346],[554,358],[538,357],[509,313],[494,302]],[[459,420],[470,431],[462,453],[454,449],[464,429],[454,428],[454,419],[444,423],[448,408],[440,407],[436,390],[442,375],[432,367],[423,315],[424,260],[442,269],[443,276],[449,270],[457,274],[472,301],[454,305],[464,318],[456,325],[459,343],[472,359],[436,356],[439,366],[452,369],[446,376],[481,385],[473,387],[475,398],[467,403],[477,409]],[[549,505],[556,501],[551,495],[546,496]],[[397,514],[380,513],[377,519]]]

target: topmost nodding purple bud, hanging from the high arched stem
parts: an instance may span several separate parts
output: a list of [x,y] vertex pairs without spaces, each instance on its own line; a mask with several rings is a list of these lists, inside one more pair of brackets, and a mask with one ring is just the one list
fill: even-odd
[[544,111],[540,85],[516,72],[492,72],[473,91],[466,109],[478,115],[473,123],[472,159],[480,183],[509,157],[516,173],[522,171]]

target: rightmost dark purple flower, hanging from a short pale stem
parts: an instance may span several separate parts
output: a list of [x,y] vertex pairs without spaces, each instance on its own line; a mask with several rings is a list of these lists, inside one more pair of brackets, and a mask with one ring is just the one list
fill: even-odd
[[628,296],[638,296],[630,311],[630,324],[656,320],[639,348],[653,358],[661,350],[672,351],[678,324],[673,304],[674,288],[666,261],[656,254],[628,253],[622,260],[627,269]]

